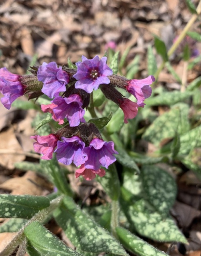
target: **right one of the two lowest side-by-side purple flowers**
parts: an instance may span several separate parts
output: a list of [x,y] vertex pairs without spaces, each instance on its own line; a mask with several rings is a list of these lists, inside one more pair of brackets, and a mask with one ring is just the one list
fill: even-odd
[[89,147],[85,147],[83,152],[87,154],[84,167],[87,169],[99,170],[101,165],[108,168],[110,164],[116,161],[113,154],[118,154],[114,150],[113,142],[104,142],[103,139],[94,138]]

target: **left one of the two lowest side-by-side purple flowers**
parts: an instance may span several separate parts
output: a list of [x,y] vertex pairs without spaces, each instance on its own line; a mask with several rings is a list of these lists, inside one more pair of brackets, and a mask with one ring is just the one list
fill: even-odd
[[63,142],[59,140],[55,150],[57,160],[65,165],[74,162],[77,167],[84,163],[86,155],[83,152],[83,148],[85,143],[78,136],[62,137],[62,139]]

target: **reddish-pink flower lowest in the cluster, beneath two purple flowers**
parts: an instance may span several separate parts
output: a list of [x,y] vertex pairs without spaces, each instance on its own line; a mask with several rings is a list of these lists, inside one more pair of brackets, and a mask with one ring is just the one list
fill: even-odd
[[105,176],[105,170],[104,169],[98,169],[97,171],[93,169],[87,169],[84,167],[84,164],[81,165],[81,167],[76,171],[75,176],[78,178],[79,176],[83,176],[86,181],[91,181],[96,177],[96,174],[100,177]]

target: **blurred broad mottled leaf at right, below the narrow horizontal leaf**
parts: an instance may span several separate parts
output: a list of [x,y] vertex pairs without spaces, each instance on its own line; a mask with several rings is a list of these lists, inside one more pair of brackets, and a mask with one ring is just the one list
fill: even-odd
[[190,129],[188,113],[188,105],[174,105],[168,112],[156,118],[142,137],[159,146],[163,139],[174,138],[177,132],[184,134]]

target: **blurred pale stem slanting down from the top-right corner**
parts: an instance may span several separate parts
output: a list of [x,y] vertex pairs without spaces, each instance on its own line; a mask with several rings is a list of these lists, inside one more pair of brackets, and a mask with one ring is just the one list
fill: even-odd
[[[193,23],[196,21],[197,17],[200,15],[201,13],[201,0],[199,1],[199,4],[197,6],[197,14],[193,14],[191,19],[189,20],[189,22],[185,25],[185,28],[183,29],[183,31],[181,32],[181,34],[179,35],[178,39],[176,40],[176,42],[170,47],[170,49],[167,52],[167,56],[170,57],[175,50],[177,49],[177,47],[179,46],[179,44],[181,43],[181,41],[184,39],[186,33],[189,31],[189,29],[191,28],[191,26],[193,25]],[[157,82],[157,79],[159,78],[159,74],[160,72],[163,70],[165,66],[165,61],[163,61],[161,63],[161,66],[156,70],[154,77],[155,77],[155,82]],[[155,84],[155,82],[153,84]]]

